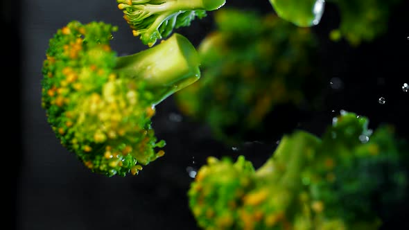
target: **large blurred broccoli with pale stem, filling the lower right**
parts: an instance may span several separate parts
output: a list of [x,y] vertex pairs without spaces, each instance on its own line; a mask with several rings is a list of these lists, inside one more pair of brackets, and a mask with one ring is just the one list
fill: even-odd
[[286,134],[254,170],[209,157],[189,190],[202,229],[380,229],[408,198],[408,145],[394,127],[351,112],[322,138]]

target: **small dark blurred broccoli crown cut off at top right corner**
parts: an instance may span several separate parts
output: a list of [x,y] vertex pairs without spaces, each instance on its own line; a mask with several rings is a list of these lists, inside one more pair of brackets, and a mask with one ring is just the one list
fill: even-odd
[[401,0],[329,0],[340,12],[340,26],[331,31],[333,40],[345,37],[349,44],[357,46],[363,41],[372,41],[388,30],[392,9]]

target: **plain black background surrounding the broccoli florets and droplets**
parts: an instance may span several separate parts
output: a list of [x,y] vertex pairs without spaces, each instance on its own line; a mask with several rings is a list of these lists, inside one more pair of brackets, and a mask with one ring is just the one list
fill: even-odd
[[[345,109],[368,116],[371,128],[393,123],[401,136],[409,138],[409,93],[401,90],[404,82],[409,83],[409,6],[408,1],[401,2],[391,14],[388,33],[356,48],[345,41],[329,41],[327,35],[340,18],[337,8],[327,3],[320,24],[313,27],[320,37],[319,61],[328,82],[324,105],[302,118],[291,116],[298,128],[320,134],[332,116]],[[227,0],[224,7],[230,6],[272,11],[267,0]],[[177,32],[198,45],[214,28],[211,17],[209,12]],[[119,26],[112,41],[119,55],[146,48],[132,37],[113,0],[1,1],[5,51],[0,62],[5,103],[1,113],[6,127],[1,166],[10,188],[3,198],[10,202],[5,210],[10,214],[7,229],[198,229],[188,209],[186,192],[193,179],[186,168],[200,168],[209,155],[237,154],[245,154],[257,167],[273,152],[275,142],[225,146],[211,138],[204,124],[184,116],[180,122],[169,119],[180,116],[170,97],[157,106],[153,118],[158,138],[168,143],[165,157],[150,163],[137,177],[92,174],[55,139],[41,107],[41,68],[49,38],[72,19]],[[342,80],[343,87],[332,89],[331,78]],[[386,99],[384,105],[378,103],[381,96]],[[397,220],[407,211],[397,213]]]

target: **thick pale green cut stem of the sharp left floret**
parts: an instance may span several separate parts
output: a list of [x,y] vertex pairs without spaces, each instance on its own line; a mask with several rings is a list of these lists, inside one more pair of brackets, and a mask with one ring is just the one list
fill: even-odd
[[178,33],[145,51],[117,57],[114,71],[143,79],[155,95],[153,105],[200,78],[198,53],[193,44]]

